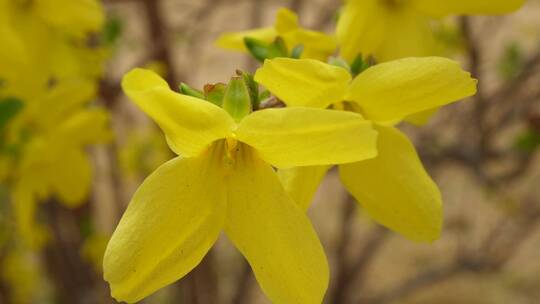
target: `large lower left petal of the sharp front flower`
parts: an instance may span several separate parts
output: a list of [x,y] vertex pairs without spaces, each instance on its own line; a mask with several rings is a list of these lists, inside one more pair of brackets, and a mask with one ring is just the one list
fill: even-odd
[[137,302],[180,279],[216,241],[226,194],[214,152],[165,163],[133,196],[103,262],[118,301]]

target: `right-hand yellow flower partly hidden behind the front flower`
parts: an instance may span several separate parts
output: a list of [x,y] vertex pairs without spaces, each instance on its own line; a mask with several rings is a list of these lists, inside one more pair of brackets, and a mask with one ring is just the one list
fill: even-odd
[[[476,92],[476,81],[444,58],[408,58],[368,68],[351,81],[341,67],[315,60],[267,60],[255,80],[291,107],[334,106],[361,113],[379,132],[378,156],[339,166],[349,192],[376,221],[416,241],[441,231],[441,195],[414,146],[392,125]],[[354,136],[350,142],[354,143]],[[357,140],[362,140],[358,138]],[[284,185],[307,208],[328,167],[281,171]]]

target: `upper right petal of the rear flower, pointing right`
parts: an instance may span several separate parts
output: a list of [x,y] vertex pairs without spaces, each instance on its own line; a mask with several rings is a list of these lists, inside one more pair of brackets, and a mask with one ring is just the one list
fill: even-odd
[[476,93],[476,80],[442,57],[406,58],[375,65],[352,82],[346,99],[367,119],[403,119]]

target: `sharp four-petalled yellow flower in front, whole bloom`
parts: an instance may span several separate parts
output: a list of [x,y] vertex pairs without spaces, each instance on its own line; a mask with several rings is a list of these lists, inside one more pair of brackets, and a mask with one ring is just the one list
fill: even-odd
[[[270,164],[374,157],[371,123],[313,108],[266,109],[235,122],[223,108],[175,93],[141,69],[125,76],[123,88],[179,156],[143,182],[108,244],[103,268],[112,295],[136,302],[185,276],[224,230],[270,300],[321,303],[328,283],[323,249]],[[364,140],[350,143],[351,136]]]

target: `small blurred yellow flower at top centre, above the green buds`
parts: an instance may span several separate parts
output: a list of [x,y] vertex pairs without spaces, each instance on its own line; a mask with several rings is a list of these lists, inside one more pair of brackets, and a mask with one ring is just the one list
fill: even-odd
[[265,27],[237,33],[225,33],[217,40],[217,45],[234,51],[247,51],[244,38],[255,38],[270,43],[277,37],[282,37],[289,49],[303,45],[302,58],[312,58],[326,61],[337,47],[334,36],[321,32],[306,30],[298,24],[298,16],[292,11],[281,8],[273,27]]

